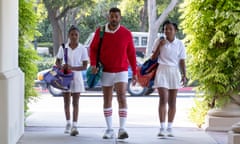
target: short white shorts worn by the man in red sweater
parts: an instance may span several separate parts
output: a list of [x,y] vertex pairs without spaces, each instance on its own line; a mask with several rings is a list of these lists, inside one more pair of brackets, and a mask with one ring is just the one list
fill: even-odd
[[113,86],[118,82],[128,82],[128,72],[117,72],[117,73],[109,73],[103,72],[101,77],[102,86]]

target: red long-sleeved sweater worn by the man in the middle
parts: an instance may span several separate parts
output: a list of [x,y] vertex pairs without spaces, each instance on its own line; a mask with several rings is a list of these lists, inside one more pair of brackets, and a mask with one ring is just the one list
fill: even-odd
[[[96,66],[97,49],[100,40],[100,28],[95,32],[90,44],[90,64]],[[105,32],[100,51],[100,61],[104,72],[122,72],[131,65],[133,74],[136,74],[136,52],[131,32],[124,26],[115,33]]]

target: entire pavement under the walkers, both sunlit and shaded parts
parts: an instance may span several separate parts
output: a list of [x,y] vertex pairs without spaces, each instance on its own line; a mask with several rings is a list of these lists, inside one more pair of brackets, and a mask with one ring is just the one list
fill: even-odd
[[[179,93],[180,94],[180,93]],[[53,97],[42,92],[39,99],[29,104],[31,115],[26,119],[24,137],[18,144],[226,144],[225,133],[206,133],[188,119],[193,106],[194,94],[180,94],[177,98],[177,113],[174,122],[175,137],[157,138],[159,120],[157,114],[158,96],[153,93],[145,97],[128,97],[127,129],[130,138],[125,141],[102,140],[105,120],[102,113],[102,97],[99,92],[86,92],[79,101],[79,136],[63,134],[65,118],[62,97]],[[181,96],[182,95],[182,96]],[[118,127],[117,102],[113,99],[113,126]],[[36,142],[37,140],[40,140]],[[35,140],[33,143],[32,140]]]

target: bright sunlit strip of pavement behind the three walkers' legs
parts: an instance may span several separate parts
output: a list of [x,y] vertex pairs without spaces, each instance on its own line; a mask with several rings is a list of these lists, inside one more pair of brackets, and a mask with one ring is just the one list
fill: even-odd
[[[82,126],[104,126],[105,120],[102,115],[103,101],[102,97],[99,96],[99,92],[86,92],[82,93],[82,95],[83,97],[79,101],[79,124]],[[188,95],[190,96],[179,96],[177,100],[175,126],[195,127],[188,119],[188,111],[193,105],[194,97],[189,93]],[[145,97],[129,96],[128,126],[158,127],[158,101],[159,98],[156,93]],[[32,114],[27,118],[26,124],[28,126],[63,126],[65,124],[62,97],[53,97],[45,93],[39,97],[37,102],[31,103],[29,107]],[[116,97],[113,99],[113,116],[117,116]],[[49,120],[51,121],[50,123]],[[116,117],[113,119],[113,124],[117,123],[118,118]]]

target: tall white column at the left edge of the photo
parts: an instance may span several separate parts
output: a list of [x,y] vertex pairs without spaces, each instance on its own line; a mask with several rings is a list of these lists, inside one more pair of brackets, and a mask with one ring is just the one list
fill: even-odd
[[0,1],[0,144],[24,133],[24,75],[18,67],[18,1]]

